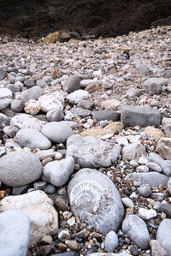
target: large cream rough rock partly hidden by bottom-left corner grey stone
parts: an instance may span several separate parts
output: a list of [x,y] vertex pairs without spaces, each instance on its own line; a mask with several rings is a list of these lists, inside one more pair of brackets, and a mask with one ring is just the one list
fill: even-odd
[[9,210],[21,210],[30,218],[30,246],[58,230],[58,213],[53,201],[41,190],[2,199],[0,211]]

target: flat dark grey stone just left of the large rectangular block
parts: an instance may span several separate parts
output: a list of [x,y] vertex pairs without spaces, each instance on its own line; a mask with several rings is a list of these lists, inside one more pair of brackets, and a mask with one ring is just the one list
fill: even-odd
[[120,113],[114,110],[97,110],[93,112],[92,119],[96,119],[97,122],[101,120],[117,121],[120,119]]

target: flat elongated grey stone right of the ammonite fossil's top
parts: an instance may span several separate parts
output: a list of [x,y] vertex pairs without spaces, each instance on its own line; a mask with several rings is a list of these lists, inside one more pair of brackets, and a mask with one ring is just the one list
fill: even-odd
[[158,187],[160,184],[166,186],[168,183],[168,176],[162,175],[156,171],[147,173],[130,173],[127,179],[132,179],[139,182],[141,185],[149,184],[150,187]]

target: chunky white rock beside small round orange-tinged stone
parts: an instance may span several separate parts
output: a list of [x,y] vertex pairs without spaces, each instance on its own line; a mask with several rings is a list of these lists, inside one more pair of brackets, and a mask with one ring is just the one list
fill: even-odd
[[45,113],[55,108],[63,110],[64,99],[60,92],[46,93],[38,98],[38,102]]

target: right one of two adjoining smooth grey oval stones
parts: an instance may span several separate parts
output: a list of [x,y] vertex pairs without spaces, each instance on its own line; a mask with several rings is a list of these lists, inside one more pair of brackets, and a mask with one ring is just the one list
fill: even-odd
[[72,129],[62,122],[48,122],[41,130],[49,140],[56,143],[65,142],[70,135],[73,134]]

